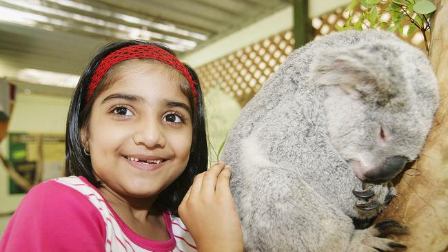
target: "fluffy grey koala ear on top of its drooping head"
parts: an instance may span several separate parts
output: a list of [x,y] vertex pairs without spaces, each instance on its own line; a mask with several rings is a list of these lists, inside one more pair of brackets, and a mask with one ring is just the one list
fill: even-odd
[[316,87],[334,85],[365,102],[385,105],[407,92],[400,85],[406,78],[402,63],[394,56],[395,49],[374,43],[321,51],[310,64],[310,83]]

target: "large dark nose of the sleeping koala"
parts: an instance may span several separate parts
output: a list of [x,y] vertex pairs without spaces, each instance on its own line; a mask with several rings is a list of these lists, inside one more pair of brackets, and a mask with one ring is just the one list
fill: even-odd
[[382,167],[378,167],[365,174],[369,182],[386,182],[400,174],[405,167],[407,160],[404,156],[393,156],[387,158]]

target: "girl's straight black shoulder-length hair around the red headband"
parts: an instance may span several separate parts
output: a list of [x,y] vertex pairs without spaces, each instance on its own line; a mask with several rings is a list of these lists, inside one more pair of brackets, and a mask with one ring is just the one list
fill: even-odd
[[[105,77],[100,81],[99,85],[95,88],[92,97],[88,103],[85,103],[88,86],[92,80],[92,76],[98,67],[99,63],[108,56],[110,53],[119,50],[120,48],[129,45],[154,45],[170,54],[174,54],[172,50],[161,45],[159,43],[152,43],[143,40],[128,40],[128,41],[116,41],[103,46],[90,61],[85,68],[77,87],[72,95],[72,101],[68,109],[67,127],[65,131],[65,174],[67,176],[83,176],[92,185],[99,188],[101,187],[101,181],[97,180],[90,162],[90,156],[86,155],[83,151],[83,144],[81,143],[81,129],[88,127],[90,120],[90,113],[92,112],[92,105],[99,94],[108,88],[108,83],[105,83]],[[207,136],[205,130],[205,108],[203,94],[201,90],[201,83],[199,82],[196,72],[183,63],[187,70],[190,72],[193,81],[196,83],[195,89],[197,93],[196,105],[194,105],[194,98],[190,85],[185,85],[188,88],[182,88],[182,92],[187,96],[190,101],[190,107],[192,107],[192,126],[193,136],[192,145],[190,149],[190,158],[187,163],[187,167],[179,176],[163,190],[159,198],[156,200],[156,204],[165,210],[170,211],[174,215],[178,215],[177,208],[181,203],[185,193],[192,185],[194,176],[207,170]]]

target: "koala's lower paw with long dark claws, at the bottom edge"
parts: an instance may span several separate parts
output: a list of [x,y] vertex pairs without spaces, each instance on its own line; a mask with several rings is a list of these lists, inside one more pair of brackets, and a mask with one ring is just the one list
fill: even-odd
[[395,233],[407,233],[406,227],[394,220],[385,220],[378,222],[368,229],[356,230],[352,236],[347,251],[395,251],[396,249],[406,248],[405,245],[394,242],[387,238],[381,238],[385,235]]

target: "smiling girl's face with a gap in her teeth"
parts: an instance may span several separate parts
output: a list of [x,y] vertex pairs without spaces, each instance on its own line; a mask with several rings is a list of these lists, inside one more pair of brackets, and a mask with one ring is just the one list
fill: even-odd
[[192,108],[180,83],[187,80],[172,67],[130,60],[94,101],[83,144],[96,175],[120,196],[157,196],[185,169]]

